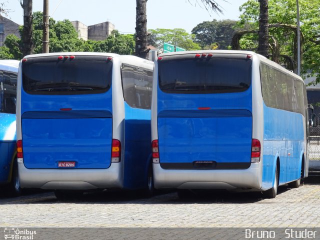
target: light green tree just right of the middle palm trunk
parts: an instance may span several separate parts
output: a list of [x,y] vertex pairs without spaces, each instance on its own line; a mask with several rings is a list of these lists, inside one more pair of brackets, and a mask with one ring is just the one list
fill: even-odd
[[150,44],[154,45],[158,49],[162,49],[163,42],[182,47],[186,50],[201,49],[199,44],[193,41],[194,34],[189,34],[182,28],[156,28],[149,29],[148,31],[151,32],[151,34],[149,35]]

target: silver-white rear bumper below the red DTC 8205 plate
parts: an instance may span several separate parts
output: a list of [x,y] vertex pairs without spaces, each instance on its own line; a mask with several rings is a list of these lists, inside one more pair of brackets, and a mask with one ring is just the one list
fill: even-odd
[[18,159],[21,187],[74,190],[123,187],[121,162],[111,163],[105,169],[29,169],[21,160]]

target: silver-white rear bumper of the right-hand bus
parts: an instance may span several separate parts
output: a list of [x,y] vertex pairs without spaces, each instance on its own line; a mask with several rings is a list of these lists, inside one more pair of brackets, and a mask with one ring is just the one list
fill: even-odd
[[262,171],[260,163],[247,169],[198,170],[163,169],[153,163],[155,188],[259,190]]

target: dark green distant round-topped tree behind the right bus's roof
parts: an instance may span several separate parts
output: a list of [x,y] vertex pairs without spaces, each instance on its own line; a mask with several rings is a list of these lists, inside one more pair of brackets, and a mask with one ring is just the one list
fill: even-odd
[[236,21],[216,20],[203,21],[192,29],[195,35],[194,41],[202,48],[215,44],[217,49],[228,49],[231,45],[231,38],[235,32]]

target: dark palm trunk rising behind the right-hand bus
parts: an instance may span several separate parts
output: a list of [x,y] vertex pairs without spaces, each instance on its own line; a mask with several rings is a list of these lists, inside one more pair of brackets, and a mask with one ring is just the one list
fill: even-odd
[[258,53],[267,57],[269,53],[268,30],[268,0],[258,0],[260,3]]

